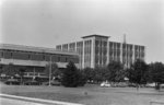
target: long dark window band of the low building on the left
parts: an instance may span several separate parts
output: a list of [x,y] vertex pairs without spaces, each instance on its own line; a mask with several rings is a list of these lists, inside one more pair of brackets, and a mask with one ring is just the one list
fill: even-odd
[[21,59],[21,60],[38,60],[38,61],[52,61],[56,62],[68,62],[73,61],[79,63],[79,58],[75,56],[62,56],[62,55],[45,55],[45,54],[34,54],[34,52],[16,52],[0,50],[0,57],[5,59]]

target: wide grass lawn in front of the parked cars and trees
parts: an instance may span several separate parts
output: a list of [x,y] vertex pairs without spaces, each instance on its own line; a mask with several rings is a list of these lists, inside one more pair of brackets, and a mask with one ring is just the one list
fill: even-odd
[[150,105],[152,101],[164,102],[164,91],[154,89],[137,91],[134,88],[99,88],[93,84],[83,88],[1,85],[0,89],[5,94],[85,105]]

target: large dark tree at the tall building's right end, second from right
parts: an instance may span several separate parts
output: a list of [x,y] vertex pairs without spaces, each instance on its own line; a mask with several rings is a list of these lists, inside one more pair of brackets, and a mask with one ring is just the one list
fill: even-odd
[[128,70],[127,77],[131,83],[145,84],[148,81],[148,65],[138,59]]

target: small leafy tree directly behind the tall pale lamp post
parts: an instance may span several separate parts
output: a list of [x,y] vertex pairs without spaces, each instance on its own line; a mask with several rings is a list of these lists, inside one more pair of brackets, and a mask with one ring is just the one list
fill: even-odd
[[[51,67],[51,69],[50,69],[50,67]],[[50,71],[51,70],[51,71]],[[50,73],[50,72],[51,73]],[[55,78],[55,77],[59,77],[60,74],[61,74],[61,71],[58,69],[58,65],[57,63],[51,63],[51,66],[50,66],[50,63],[49,65],[46,65],[46,68],[45,68],[45,74],[47,75],[47,77],[49,77],[49,73],[51,74],[50,77],[51,77],[51,79],[52,78]]]

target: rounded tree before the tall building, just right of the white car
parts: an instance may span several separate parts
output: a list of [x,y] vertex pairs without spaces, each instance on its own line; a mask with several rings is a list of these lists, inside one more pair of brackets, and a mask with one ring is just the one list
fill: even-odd
[[112,82],[121,82],[125,78],[124,67],[120,62],[113,61],[107,66],[106,78]]

